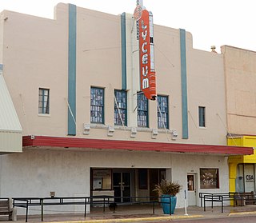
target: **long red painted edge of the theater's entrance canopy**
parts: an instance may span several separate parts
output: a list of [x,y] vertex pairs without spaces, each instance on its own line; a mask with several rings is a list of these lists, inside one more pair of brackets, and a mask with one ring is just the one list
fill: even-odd
[[[34,138],[33,138],[34,137]],[[228,146],[228,145],[195,145],[166,142],[147,141],[122,141],[89,139],[78,137],[45,137],[25,136],[23,146],[49,146],[49,147],[71,147],[88,149],[123,149],[134,151],[158,151],[174,153],[209,153],[227,155],[250,155],[254,153],[251,147]]]

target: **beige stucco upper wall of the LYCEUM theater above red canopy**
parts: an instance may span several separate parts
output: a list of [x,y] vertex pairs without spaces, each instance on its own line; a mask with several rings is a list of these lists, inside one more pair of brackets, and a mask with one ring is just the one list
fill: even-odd
[[[2,13],[7,18],[3,24],[3,75],[7,83],[12,83],[10,94],[22,122],[23,135],[67,135],[68,21],[64,16],[67,10],[68,5],[59,4],[56,20],[10,11]],[[114,90],[122,87],[120,29],[120,15],[78,8],[76,137],[109,138],[106,129],[91,129],[89,135],[84,135],[83,126],[90,124],[90,86],[105,89],[105,125],[114,125]],[[129,29],[128,26],[128,34]],[[226,145],[226,129],[222,124],[226,122],[222,55],[194,50],[192,35],[186,33],[190,137],[182,140],[179,30],[155,26],[154,33],[157,90],[158,94],[170,97],[170,129],[178,131],[176,142]],[[127,48],[130,38],[127,37]],[[136,127],[134,93],[139,91],[139,85],[134,79],[139,79],[138,70],[129,64],[132,54],[128,53],[127,80],[133,82],[127,84],[130,100],[127,127]],[[134,70],[134,74],[129,70]],[[50,89],[50,115],[38,115],[39,87]],[[207,126],[203,129],[198,128],[198,106],[206,106]],[[157,129],[156,102],[150,102],[149,107],[150,129]],[[115,138],[127,139],[127,133],[117,129],[111,139]],[[132,140],[155,141],[143,129]],[[168,141],[164,131],[158,134],[158,141]]]

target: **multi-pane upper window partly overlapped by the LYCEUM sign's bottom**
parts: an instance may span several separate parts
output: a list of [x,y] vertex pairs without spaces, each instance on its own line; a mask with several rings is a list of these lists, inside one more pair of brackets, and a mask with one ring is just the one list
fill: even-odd
[[142,93],[137,94],[137,119],[138,127],[148,127],[149,126],[149,110],[148,110],[148,100]]

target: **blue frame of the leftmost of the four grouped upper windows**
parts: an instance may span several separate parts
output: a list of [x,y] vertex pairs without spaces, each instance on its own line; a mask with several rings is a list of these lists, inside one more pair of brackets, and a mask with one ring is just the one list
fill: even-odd
[[[100,97],[102,97],[102,101],[101,100],[97,100],[96,101],[96,98],[97,98],[97,94],[95,94],[95,101],[94,101],[94,104],[92,104],[92,90],[102,90],[102,96],[99,95]],[[101,105],[95,105],[97,103],[95,102],[102,102],[102,106]],[[100,109],[99,110],[92,110],[92,106],[96,107],[96,108],[102,108],[102,116],[101,117],[98,117],[98,116],[92,116],[92,112],[100,112]],[[105,89],[104,88],[100,88],[100,87],[94,87],[94,86],[91,86],[90,87],[90,123],[95,123],[95,124],[104,124],[104,121],[105,121],[105,117],[104,117],[104,111],[105,111]],[[99,118],[100,121],[92,121],[93,120],[93,117],[94,118]]]

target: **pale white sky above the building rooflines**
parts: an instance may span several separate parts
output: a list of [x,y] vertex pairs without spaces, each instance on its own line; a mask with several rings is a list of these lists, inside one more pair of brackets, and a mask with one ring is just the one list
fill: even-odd
[[[136,0],[0,0],[0,12],[12,10],[54,18],[58,2],[109,14],[133,14]],[[185,29],[193,35],[193,47],[210,51],[229,45],[256,51],[256,0],[143,0],[154,24]]]

